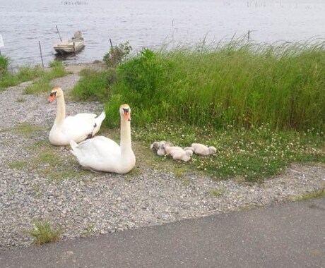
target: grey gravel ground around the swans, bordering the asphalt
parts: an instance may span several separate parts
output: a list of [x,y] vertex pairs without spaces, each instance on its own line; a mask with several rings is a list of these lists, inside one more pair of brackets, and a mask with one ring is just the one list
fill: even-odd
[[[80,66],[74,70],[52,84],[69,90],[78,81]],[[12,163],[32,158],[26,145],[47,142],[56,113],[56,104],[47,104],[47,96],[22,94],[28,84],[0,92],[1,250],[31,245],[32,238],[25,231],[32,228],[32,219],[37,218],[47,218],[60,226],[61,239],[72,239],[286,202],[325,186],[322,165],[295,164],[260,184],[213,181],[194,173],[179,179],[172,171],[150,168],[141,168],[132,176],[80,170],[78,176],[54,181],[37,170],[11,168]],[[98,103],[66,103],[68,115],[98,113],[101,109]],[[16,131],[22,123],[40,128],[37,136]],[[149,147],[148,144],[150,157]],[[61,157],[70,156],[69,148],[54,148]],[[71,166],[80,169],[75,159]],[[211,189],[219,189],[222,194],[211,195]]]

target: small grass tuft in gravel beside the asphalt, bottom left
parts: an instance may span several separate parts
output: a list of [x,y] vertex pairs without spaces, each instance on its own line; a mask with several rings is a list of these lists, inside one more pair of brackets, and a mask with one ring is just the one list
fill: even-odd
[[33,222],[33,225],[33,228],[27,231],[27,233],[34,238],[35,245],[55,242],[61,236],[61,230],[52,227],[47,219],[37,219]]

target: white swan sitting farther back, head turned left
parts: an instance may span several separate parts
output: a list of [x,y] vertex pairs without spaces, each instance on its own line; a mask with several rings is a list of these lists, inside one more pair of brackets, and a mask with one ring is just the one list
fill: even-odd
[[100,130],[105,112],[96,114],[76,114],[66,117],[64,94],[60,87],[54,87],[48,97],[49,102],[57,98],[57,117],[49,131],[49,142],[52,145],[69,145],[70,140],[81,142],[93,137]]

